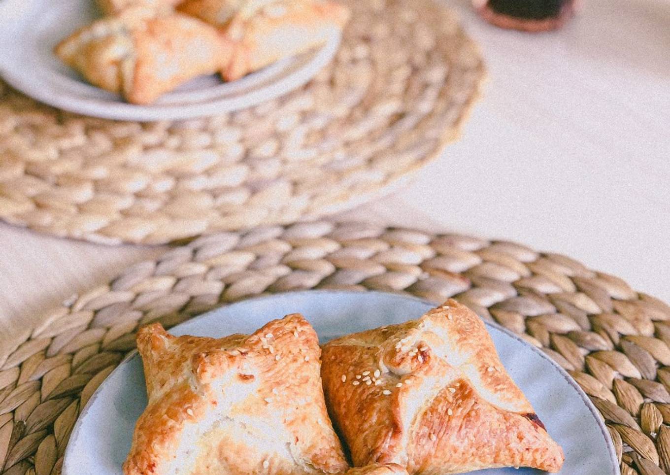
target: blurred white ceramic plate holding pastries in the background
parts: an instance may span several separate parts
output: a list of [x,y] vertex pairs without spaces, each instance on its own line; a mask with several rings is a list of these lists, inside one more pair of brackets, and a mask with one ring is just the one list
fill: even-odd
[[58,42],[98,16],[92,0],[0,1],[0,75],[24,94],[66,111],[127,121],[192,119],[251,107],[302,86],[340,44],[340,31],[333,29],[326,44],[312,52],[234,82],[201,76],[139,106],[88,84],[54,55]]

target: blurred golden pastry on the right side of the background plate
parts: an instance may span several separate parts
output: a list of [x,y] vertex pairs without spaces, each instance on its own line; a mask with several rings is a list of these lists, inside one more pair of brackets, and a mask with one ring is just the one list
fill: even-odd
[[253,14],[238,11],[221,30],[232,50],[221,77],[236,80],[307,52],[324,44],[333,29],[342,29],[348,18],[344,5],[320,0],[266,1],[262,8],[253,9]]

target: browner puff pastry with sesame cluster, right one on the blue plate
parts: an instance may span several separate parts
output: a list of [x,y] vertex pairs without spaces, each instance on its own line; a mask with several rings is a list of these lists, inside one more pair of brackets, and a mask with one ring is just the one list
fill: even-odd
[[557,472],[563,464],[484,324],[455,300],[322,351],[326,403],[354,466],[454,474],[504,466]]

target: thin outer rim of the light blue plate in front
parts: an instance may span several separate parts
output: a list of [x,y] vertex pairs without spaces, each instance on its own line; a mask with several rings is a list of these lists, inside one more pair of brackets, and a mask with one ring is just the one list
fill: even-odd
[[[240,303],[249,303],[249,301],[273,299],[273,298],[277,298],[277,297],[283,298],[283,297],[287,297],[287,296],[290,296],[290,295],[305,295],[305,294],[317,294],[318,295],[320,293],[322,293],[322,294],[324,294],[324,293],[344,294],[344,295],[376,294],[376,295],[381,295],[383,297],[389,297],[389,298],[397,298],[397,299],[403,299],[403,300],[414,300],[414,301],[417,301],[419,303],[423,303],[423,304],[425,304],[427,306],[431,306],[431,307],[435,307],[435,306],[438,305],[433,301],[430,301],[428,299],[423,299],[421,297],[416,297],[415,295],[405,295],[405,294],[402,294],[402,293],[385,292],[385,291],[378,291],[378,290],[355,291],[355,290],[336,290],[336,289],[304,289],[304,290],[296,290],[296,291],[271,293],[269,295],[259,295],[257,297],[245,298],[245,299],[241,299],[241,300],[238,300],[238,301],[234,301],[234,302],[228,303],[226,305],[214,308],[212,310],[208,310],[207,312],[204,312],[203,314],[199,314],[197,316],[189,318],[188,320],[171,327],[170,331],[174,330],[175,328],[179,328],[180,326],[183,326],[185,324],[192,323],[196,320],[201,320],[203,318],[209,318],[210,316],[213,316],[217,312],[221,312],[223,309],[230,308],[231,306],[235,306],[235,305],[240,304]],[[600,429],[600,435],[602,435],[602,437],[605,441],[605,445],[608,448],[608,454],[610,456],[610,462],[612,462],[612,471],[610,472],[610,474],[619,475],[620,470],[618,468],[618,458],[616,457],[616,450],[614,450],[614,444],[612,443],[612,437],[610,437],[609,431],[608,431],[608,429],[605,425],[605,421],[602,418],[602,416],[600,415],[600,413],[598,413],[598,409],[596,409],[596,407],[594,406],[592,401],[589,399],[588,395],[586,395],[584,390],[580,387],[580,385],[578,385],[578,383],[568,374],[568,372],[565,369],[561,368],[561,366],[559,366],[559,364],[557,362],[555,362],[554,360],[549,358],[549,356],[547,354],[545,354],[545,352],[543,352],[539,348],[529,344],[528,342],[523,340],[523,338],[521,338],[517,334],[511,332],[511,330],[507,330],[507,328],[497,324],[496,322],[490,322],[490,321],[484,320],[484,319],[481,319],[481,320],[482,320],[482,322],[484,322],[484,326],[487,327],[487,331],[488,331],[488,328],[493,328],[494,330],[498,330],[502,334],[505,334],[506,336],[511,337],[513,340],[516,340],[517,342],[523,344],[523,346],[526,346],[529,349],[533,350],[533,352],[535,352],[541,358],[543,358],[544,360],[549,362],[551,364],[551,366],[553,366],[553,368],[555,370],[557,370],[557,372],[559,372],[559,375],[561,375],[563,377],[565,382],[570,387],[572,387],[572,389],[574,389],[574,391],[576,391],[576,393],[578,394],[578,396],[582,400],[582,403],[584,404],[584,406],[586,406],[588,411],[591,413],[593,419],[595,419],[596,423],[598,424],[598,429]],[[63,454],[63,465],[62,465],[62,474],[63,475],[72,475],[72,474],[76,473],[76,472],[72,472],[70,470],[67,470],[68,466],[66,466],[68,456],[71,454],[72,450],[74,450],[72,448],[73,445],[69,443],[69,440],[74,440],[75,435],[77,435],[79,433],[84,417],[90,411],[92,403],[94,403],[94,401],[96,399],[98,399],[98,397],[100,395],[100,392],[103,389],[103,386],[105,385],[105,382],[115,372],[120,370],[121,366],[123,366],[124,364],[127,364],[130,360],[132,360],[133,358],[137,358],[137,357],[139,357],[139,352],[137,351],[137,348],[135,348],[134,350],[129,352],[129,354],[127,354],[125,356],[125,358],[123,358],[119,362],[117,367],[114,368],[109,373],[109,375],[107,375],[107,377],[105,377],[105,379],[102,381],[102,383],[100,383],[100,385],[96,388],[96,390],[90,396],[90,398],[86,402],[86,405],[84,407],[82,407],[82,409],[79,411],[79,415],[77,417],[77,420],[74,423],[74,427],[72,427],[72,431],[70,432],[70,437],[68,438],[68,446],[66,447],[65,452]]]

